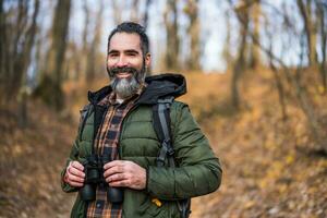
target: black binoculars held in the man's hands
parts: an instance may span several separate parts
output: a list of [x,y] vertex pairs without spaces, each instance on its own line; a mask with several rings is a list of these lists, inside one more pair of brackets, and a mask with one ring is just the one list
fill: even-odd
[[85,202],[96,199],[97,185],[104,185],[107,190],[107,199],[112,204],[123,202],[123,191],[120,187],[111,187],[104,178],[104,166],[110,161],[108,156],[90,155],[84,164],[85,181],[80,190],[81,198]]

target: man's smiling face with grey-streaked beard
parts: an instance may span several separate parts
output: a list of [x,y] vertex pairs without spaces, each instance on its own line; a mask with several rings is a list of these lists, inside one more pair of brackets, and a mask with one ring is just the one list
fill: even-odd
[[143,57],[137,34],[117,33],[109,45],[107,68],[113,90],[121,98],[134,94],[144,81],[150,55]]

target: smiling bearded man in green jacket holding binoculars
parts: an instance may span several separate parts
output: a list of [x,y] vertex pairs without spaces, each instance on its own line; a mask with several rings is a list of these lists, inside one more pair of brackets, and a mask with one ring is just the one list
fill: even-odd
[[186,85],[178,74],[145,77],[150,58],[141,25],[125,22],[111,32],[110,85],[88,94],[89,105],[82,111],[62,171],[63,191],[80,191],[72,217],[181,217],[178,201],[220,185],[219,160],[187,106],[179,101],[170,108],[177,167],[157,166],[161,144],[153,106],[164,96],[184,94]]

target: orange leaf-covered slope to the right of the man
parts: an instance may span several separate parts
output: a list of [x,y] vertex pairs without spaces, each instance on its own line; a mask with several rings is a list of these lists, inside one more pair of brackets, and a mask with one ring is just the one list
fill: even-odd
[[[198,75],[189,81],[185,100],[223,167],[220,190],[193,201],[194,217],[327,217],[326,154],[315,147],[294,104],[288,104],[288,119],[281,119],[269,76],[246,80],[239,112],[228,106],[228,76],[208,75],[206,85],[196,83],[203,81]],[[216,90],[209,89],[214,84]],[[326,112],[326,96],[316,98],[325,101],[319,109]]]

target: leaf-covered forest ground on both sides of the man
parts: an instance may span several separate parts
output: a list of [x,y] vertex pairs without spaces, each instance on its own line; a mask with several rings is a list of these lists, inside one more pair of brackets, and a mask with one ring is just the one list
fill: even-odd
[[[240,111],[230,107],[228,75],[186,77],[182,100],[223,168],[219,191],[194,198],[191,217],[327,217],[327,157],[316,152],[294,102],[281,119],[269,76],[244,80]],[[0,108],[0,217],[69,217],[74,196],[61,192],[59,174],[85,102],[80,86],[65,87],[76,104],[61,114],[29,102],[26,129],[17,128],[14,106]],[[324,108],[326,96],[317,99]]]

